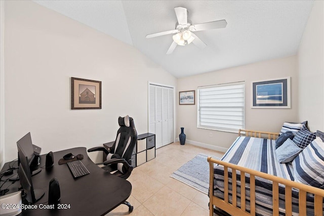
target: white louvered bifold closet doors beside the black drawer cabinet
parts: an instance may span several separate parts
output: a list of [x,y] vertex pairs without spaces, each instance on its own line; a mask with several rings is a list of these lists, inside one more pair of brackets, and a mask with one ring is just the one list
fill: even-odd
[[173,143],[174,89],[149,84],[149,133],[155,134],[155,148]]

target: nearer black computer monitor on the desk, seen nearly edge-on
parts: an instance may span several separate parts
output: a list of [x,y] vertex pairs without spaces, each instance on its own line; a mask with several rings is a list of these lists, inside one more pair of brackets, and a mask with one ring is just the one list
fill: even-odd
[[26,193],[26,200],[29,203],[35,203],[41,199],[45,191],[43,189],[34,189],[31,182],[30,168],[28,164],[28,157],[18,145],[18,154],[20,156],[20,165],[18,169],[19,180],[22,188]]

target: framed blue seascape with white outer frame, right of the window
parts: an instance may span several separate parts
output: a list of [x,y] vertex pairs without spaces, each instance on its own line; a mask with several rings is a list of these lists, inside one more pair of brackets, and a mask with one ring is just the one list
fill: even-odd
[[252,108],[290,108],[290,77],[252,81]]

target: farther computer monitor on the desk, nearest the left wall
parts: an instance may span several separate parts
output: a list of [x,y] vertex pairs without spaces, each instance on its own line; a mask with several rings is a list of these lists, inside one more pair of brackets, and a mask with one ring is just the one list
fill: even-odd
[[[38,172],[42,171],[42,169],[38,169],[37,165],[34,165],[35,154],[34,154],[34,148],[33,148],[32,142],[31,142],[30,132],[28,134],[26,134],[25,136],[23,136],[20,140],[17,141],[17,147],[20,147],[24,151],[24,153],[28,159],[28,166],[31,171],[31,176],[36,175]],[[19,155],[19,152],[18,152],[18,158],[20,161],[21,157]]]

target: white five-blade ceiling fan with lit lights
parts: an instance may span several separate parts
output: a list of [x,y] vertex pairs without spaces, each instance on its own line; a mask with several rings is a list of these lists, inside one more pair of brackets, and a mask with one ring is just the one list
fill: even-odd
[[227,25],[226,20],[217,20],[206,23],[199,24],[191,24],[188,23],[187,19],[187,9],[182,7],[174,8],[177,16],[178,22],[176,23],[176,29],[170,31],[163,31],[153,34],[147,34],[146,38],[157,37],[166,34],[174,34],[172,36],[173,42],[167,52],[167,54],[171,54],[177,47],[177,45],[185,46],[186,44],[190,44],[191,42],[201,48],[204,49],[207,45],[197,37],[193,32],[194,31],[203,31],[208,29],[215,28],[225,28]]

